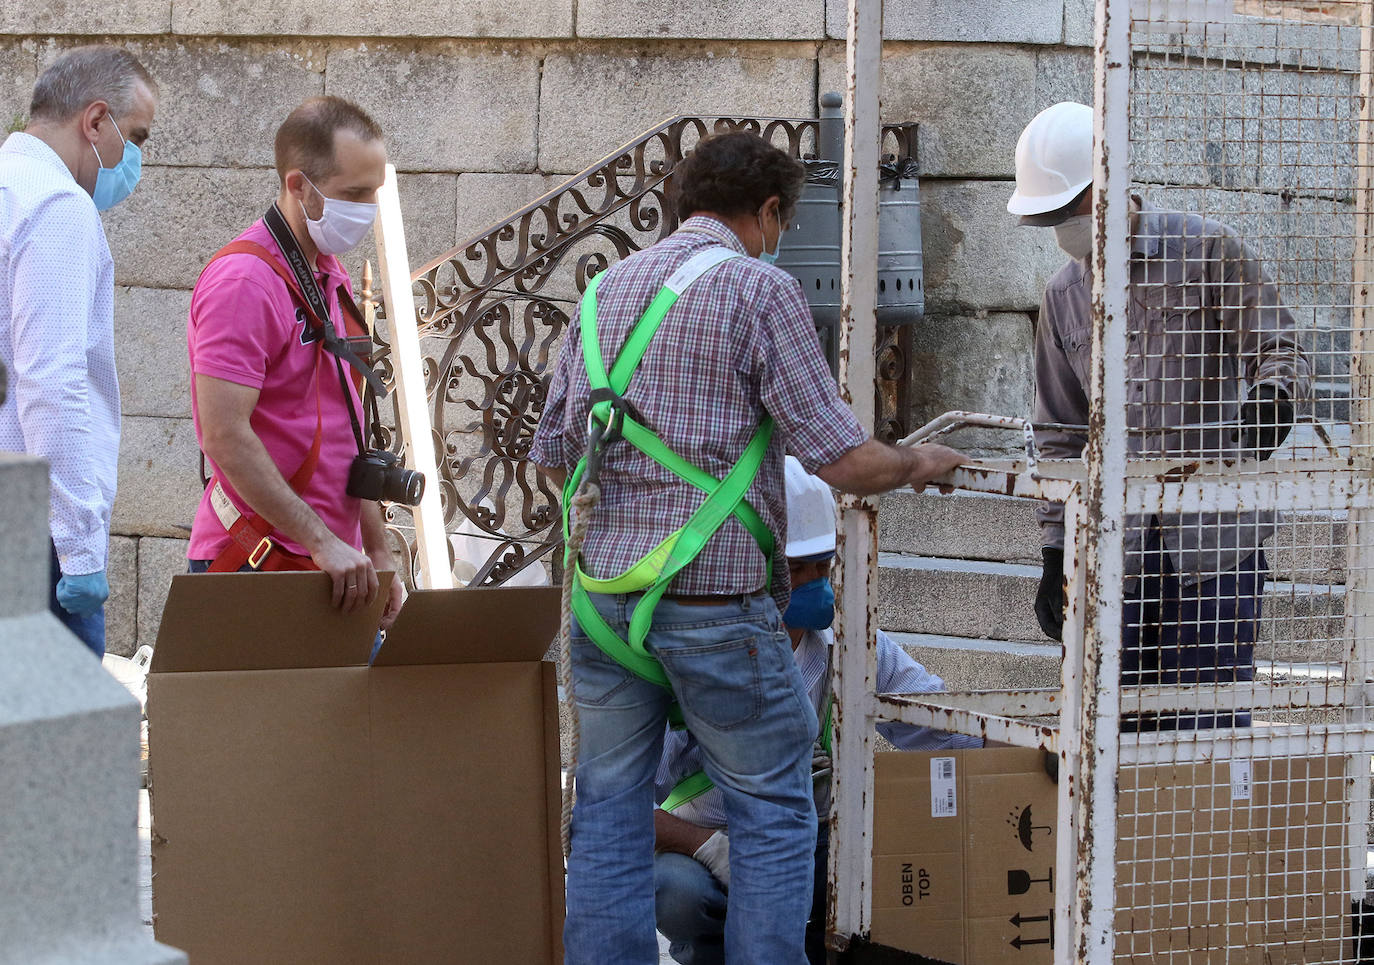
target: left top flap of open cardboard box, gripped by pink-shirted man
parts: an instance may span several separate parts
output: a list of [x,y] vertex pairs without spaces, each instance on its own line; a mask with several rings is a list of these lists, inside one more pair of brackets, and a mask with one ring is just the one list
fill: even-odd
[[183,573],[172,579],[150,671],[365,667],[392,576],[378,573],[371,606],[344,613],[324,573]]

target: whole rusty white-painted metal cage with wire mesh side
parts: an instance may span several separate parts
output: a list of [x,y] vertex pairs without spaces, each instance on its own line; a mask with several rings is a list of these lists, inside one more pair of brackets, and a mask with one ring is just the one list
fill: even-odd
[[[1063,683],[874,694],[875,513],[842,503],[834,944],[868,933],[870,735],[901,719],[1059,755],[1057,962],[1360,961],[1371,23],[1371,0],[1098,0],[1084,456],[952,480],[1065,503]],[[849,37],[841,377],[861,411],[879,3],[851,0]],[[1268,459],[1239,425],[1263,385],[1298,419]]]

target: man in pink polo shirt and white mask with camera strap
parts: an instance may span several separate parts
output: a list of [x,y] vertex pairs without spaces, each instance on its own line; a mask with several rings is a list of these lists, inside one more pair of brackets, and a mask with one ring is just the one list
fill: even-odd
[[[210,261],[191,297],[191,400],[213,477],[187,555],[192,572],[324,570],[334,603],[352,612],[376,598],[376,572],[396,559],[381,504],[348,493],[367,423],[357,373],[324,351],[323,323],[361,334],[337,256],[372,224],[386,148],[376,122],[339,98],[291,111],[275,147],[276,203]],[[383,630],[404,598],[393,580]]]

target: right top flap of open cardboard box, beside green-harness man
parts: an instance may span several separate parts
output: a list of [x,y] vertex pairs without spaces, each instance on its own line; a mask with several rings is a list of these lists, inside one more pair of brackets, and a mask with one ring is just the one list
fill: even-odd
[[416,590],[372,665],[540,660],[558,632],[558,606],[555,587]]

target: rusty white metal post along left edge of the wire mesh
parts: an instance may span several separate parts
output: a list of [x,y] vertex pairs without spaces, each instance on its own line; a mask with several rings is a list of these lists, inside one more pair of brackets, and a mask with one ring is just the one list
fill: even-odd
[[1110,965],[1116,918],[1121,598],[1125,576],[1127,302],[1129,294],[1131,4],[1098,0],[1094,65],[1092,384],[1088,426],[1087,606],[1077,774],[1073,951]]

